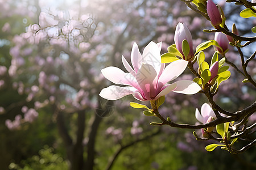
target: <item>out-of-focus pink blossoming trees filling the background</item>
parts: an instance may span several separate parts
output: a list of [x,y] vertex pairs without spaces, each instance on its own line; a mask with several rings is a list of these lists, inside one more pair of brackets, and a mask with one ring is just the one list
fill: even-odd
[[[250,35],[255,19],[237,19],[242,6],[224,2],[218,1],[228,27],[236,23],[240,35]],[[213,39],[214,33],[202,32],[210,22],[183,2],[11,0],[0,6],[3,169],[255,168],[254,148],[236,156],[208,153],[209,142],[195,141],[192,131],[149,126],[154,118],[130,108],[131,97],[110,102],[98,96],[109,85],[100,69],[124,69],[121,56],[130,61],[133,42],[143,48],[162,41],[164,53],[179,22],[188,25],[195,46]],[[245,57],[254,50],[245,49]],[[205,52],[208,61],[213,51]],[[232,46],[226,57],[237,62]],[[255,78],[255,59],[248,71]],[[184,78],[193,76],[187,70]],[[224,109],[237,111],[255,101],[255,88],[243,79],[232,71],[222,83],[216,98]],[[195,124],[195,109],[206,101],[200,94],[171,93],[160,113]],[[255,120],[254,113],[249,121]]]

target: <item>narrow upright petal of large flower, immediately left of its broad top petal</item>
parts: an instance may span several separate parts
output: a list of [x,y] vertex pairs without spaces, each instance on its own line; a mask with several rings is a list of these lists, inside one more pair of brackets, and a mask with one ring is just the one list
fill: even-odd
[[137,73],[142,65],[142,56],[139,52],[138,45],[135,42],[133,44],[133,49],[131,49],[131,64],[133,65],[135,73]]

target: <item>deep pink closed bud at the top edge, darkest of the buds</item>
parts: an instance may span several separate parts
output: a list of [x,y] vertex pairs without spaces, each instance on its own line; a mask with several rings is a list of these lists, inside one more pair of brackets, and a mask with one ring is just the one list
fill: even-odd
[[212,0],[208,0],[207,2],[207,14],[210,18],[210,22],[214,27],[221,24],[222,18],[220,15],[220,11],[218,11],[217,6],[215,5],[215,3],[212,2]]

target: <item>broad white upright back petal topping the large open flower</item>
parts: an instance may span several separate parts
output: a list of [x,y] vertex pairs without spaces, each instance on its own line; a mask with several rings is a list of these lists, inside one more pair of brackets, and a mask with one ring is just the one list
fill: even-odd
[[151,41],[143,50],[142,62],[147,63],[155,68],[157,74],[161,69],[161,57],[159,46],[155,42]]

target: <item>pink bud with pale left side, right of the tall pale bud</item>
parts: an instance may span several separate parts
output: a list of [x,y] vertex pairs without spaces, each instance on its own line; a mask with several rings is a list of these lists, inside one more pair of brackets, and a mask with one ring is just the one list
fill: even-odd
[[216,47],[216,50],[220,54],[225,54],[228,50],[229,40],[227,39],[226,35],[222,32],[216,32],[214,36],[214,40],[218,42],[218,45],[221,46],[222,49]]

